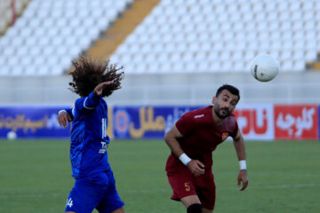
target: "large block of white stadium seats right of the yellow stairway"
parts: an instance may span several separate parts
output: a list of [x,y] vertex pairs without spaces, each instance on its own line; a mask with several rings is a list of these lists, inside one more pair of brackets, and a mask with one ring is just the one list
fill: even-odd
[[316,0],[163,0],[112,59],[127,73],[237,72],[267,52],[304,71],[320,50]]

